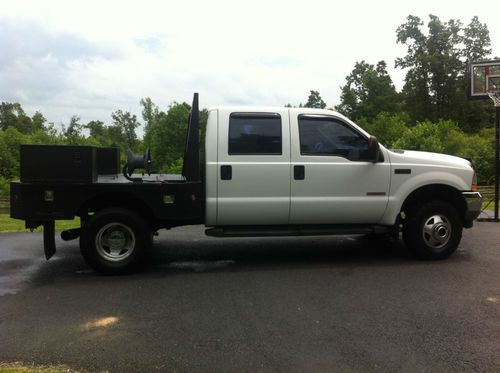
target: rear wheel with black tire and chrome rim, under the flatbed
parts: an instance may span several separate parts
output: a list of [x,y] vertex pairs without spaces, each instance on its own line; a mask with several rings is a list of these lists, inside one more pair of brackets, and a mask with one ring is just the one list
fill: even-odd
[[82,256],[90,267],[103,274],[135,272],[150,247],[148,225],[126,209],[101,210],[82,226]]

